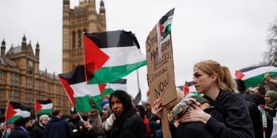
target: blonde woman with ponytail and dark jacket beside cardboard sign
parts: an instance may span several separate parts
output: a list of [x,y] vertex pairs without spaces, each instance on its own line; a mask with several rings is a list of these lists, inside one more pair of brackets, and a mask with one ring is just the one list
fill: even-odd
[[[204,94],[211,106],[195,110],[179,117],[176,137],[254,137],[253,125],[247,103],[238,94],[237,86],[229,68],[217,61],[201,61],[193,68],[193,83],[197,93]],[[153,114],[161,111],[161,100],[153,103]],[[220,110],[222,108],[222,110]]]

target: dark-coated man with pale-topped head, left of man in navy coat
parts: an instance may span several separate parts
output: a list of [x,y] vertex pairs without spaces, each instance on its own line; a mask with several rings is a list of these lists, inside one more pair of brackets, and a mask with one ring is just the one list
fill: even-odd
[[48,115],[42,115],[39,117],[39,124],[33,129],[33,138],[42,138],[44,132],[44,126],[48,123]]

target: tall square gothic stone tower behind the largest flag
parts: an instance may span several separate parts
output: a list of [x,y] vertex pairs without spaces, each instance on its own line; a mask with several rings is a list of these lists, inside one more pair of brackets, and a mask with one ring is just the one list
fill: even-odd
[[62,73],[70,72],[84,64],[83,32],[106,31],[104,2],[100,2],[100,13],[96,12],[95,0],[80,1],[79,6],[70,9],[70,1],[63,1],[62,28]]

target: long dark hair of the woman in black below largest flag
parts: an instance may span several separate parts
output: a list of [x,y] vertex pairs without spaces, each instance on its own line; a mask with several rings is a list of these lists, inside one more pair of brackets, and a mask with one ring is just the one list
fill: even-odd
[[[132,99],[129,97],[127,92],[124,92],[123,90],[116,90],[114,93],[111,94],[111,97],[109,97],[109,108],[111,108],[111,98],[117,97],[121,103],[123,104],[123,112],[116,116],[116,119],[114,120],[114,124],[109,131],[108,137],[115,138],[116,137],[116,127],[122,121],[124,115],[126,112],[129,112],[129,110],[132,108]],[[112,110],[112,108],[111,108]]]

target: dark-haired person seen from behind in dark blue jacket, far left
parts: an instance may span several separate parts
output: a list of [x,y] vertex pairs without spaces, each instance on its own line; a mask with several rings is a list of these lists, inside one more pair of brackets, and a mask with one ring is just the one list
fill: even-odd
[[10,132],[9,138],[30,138],[27,128],[27,121],[24,118],[15,120],[15,130]]

